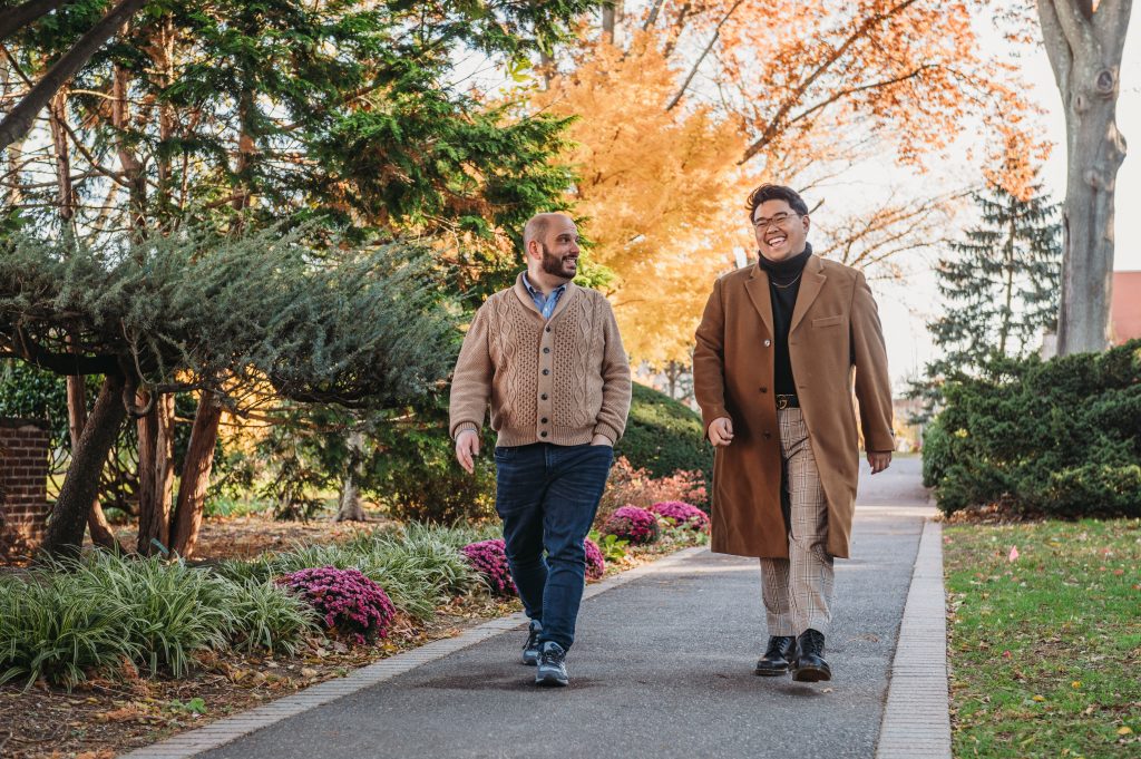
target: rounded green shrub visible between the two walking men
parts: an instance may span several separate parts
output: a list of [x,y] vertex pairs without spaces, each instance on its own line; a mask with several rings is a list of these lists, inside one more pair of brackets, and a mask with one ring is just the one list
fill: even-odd
[[648,469],[655,477],[669,477],[679,469],[699,471],[711,488],[713,449],[703,433],[702,418],[688,406],[634,382],[626,431],[614,446],[614,455],[624,455],[636,469]]

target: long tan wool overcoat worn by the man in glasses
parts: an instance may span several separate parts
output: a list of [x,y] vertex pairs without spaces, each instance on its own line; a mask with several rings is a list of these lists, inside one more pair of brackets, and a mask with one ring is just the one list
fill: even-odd
[[[713,463],[712,550],[784,558],[780,433],[774,397],[772,304],[756,264],[720,277],[697,328],[694,394],[707,431],[733,420],[734,438]],[[810,256],[788,330],[796,397],[828,501],[827,551],[849,556],[859,438],[852,389],[868,451],[891,451],[888,356],[872,290],[858,271]]]

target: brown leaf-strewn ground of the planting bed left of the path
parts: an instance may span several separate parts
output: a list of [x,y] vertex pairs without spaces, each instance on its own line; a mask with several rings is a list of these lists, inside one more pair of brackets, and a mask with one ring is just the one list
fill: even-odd
[[[216,564],[217,573],[232,580],[259,581],[267,576],[267,567],[277,572],[308,559],[332,559],[331,547],[340,547],[341,555],[347,556],[349,563],[362,565],[366,574],[370,567],[383,567],[389,580],[395,576],[414,580],[427,572],[438,575],[442,587],[447,586],[436,565],[391,560],[390,524],[369,524],[362,532],[330,522],[281,523],[249,516],[213,526],[226,532],[229,539],[209,543],[212,546],[211,564]],[[235,527],[241,530],[235,531]],[[430,541],[462,546],[492,532],[494,525],[412,528],[403,535],[406,540],[402,542],[424,549],[414,554],[431,556],[439,551],[428,544]],[[298,547],[294,541],[299,540],[309,544]],[[706,540],[704,533],[667,526],[655,543],[609,551],[606,574],[616,574]],[[269,549],[270,554],[240,567],[235,559],[250,558],[257,548]],[[406,581],[406,584],[414,587],[413,582]],[[70,692],[50,685],[46,678],[37,680],[27,691],[24,681],[9,683],[0,686],[0,756],[108,759],[310,685],[345,677],[354,669],[431,640],[454,637],[487,619],[520,608],[517,599],[492,596],[483,583],[474,582],[462,592],[439,597],[431,614],[418,614],[421,609],[413,604],[404,608],[397,604],[388,637],[374,645],[347,645],[341,639],[314,631],[301,638],[292,654],[285,651],[269,653],[259,647],[200,651],[188,671],[179,678],[169,672],[147,677],[145,668],[140,670],[123,661],[111,671],[88,672],[87,679],[75,684]]]

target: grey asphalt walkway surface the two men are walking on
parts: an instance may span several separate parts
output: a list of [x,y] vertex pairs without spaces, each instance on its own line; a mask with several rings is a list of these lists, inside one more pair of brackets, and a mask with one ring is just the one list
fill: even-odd
[[[866,468],[866,462],[865,462]],[[698,554],[583,604],[568,688],[536,688],[509,632],[204,757],[872,757],[923,515],[919,460],[865,470],[836,562],[833,680],[760,678],[756,562]]]

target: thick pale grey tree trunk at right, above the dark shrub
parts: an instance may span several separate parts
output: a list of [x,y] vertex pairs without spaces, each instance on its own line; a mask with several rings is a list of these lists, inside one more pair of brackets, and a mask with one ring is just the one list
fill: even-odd
[[1114,271],[1114,188],[1125,159],[1117,96],[1131,0],[1039,0],[1038,18],[1066,108],[1060,355],[1104,350]]

